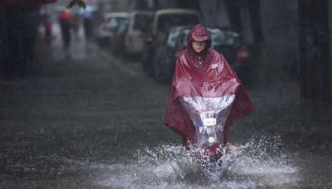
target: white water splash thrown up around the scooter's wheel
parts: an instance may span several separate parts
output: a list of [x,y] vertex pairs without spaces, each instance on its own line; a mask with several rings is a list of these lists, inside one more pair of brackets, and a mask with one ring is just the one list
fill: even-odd
[[114,188],[253,188],[296,186],[298,170],[279,137],[253,137],[228,153],[222,166],[206,169],[182,146],[160,145],[135,153],[129,164],[109,165],[98,186]]

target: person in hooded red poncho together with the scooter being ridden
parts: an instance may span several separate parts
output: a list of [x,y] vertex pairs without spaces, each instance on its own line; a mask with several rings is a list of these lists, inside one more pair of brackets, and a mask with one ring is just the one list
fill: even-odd
[[223,55],[211,48],[209,31],[195,25],[186,50],[177,58],[165,125],[181,135],[184,145],[220,158],[229,127],[254,111],[247,90]]

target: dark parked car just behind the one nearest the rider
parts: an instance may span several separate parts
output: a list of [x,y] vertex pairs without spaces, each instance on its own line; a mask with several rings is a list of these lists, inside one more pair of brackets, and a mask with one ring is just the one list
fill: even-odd
[[151,71],[152,59],[155,54],[153,43],[162,31],[182,25],[195,25],[200,22],[200,13],[196,10],[169,8],[155,11],[148,25],[148,37],[142,53],[142,64]]

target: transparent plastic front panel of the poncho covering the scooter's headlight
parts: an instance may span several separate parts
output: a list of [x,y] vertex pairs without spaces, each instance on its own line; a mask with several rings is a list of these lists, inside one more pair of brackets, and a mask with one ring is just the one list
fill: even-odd
[[222,144],[223,128],[235,94],[223,97],[181,97],[180,102],[195,125],[195,145]]

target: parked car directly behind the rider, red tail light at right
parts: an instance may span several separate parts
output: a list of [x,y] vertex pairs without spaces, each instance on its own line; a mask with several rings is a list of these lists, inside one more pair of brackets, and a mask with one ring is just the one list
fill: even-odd
[[[177,57],[181,55],[181,52],[187,47],[187,36],[191,27],[175,27],[170,29],[170,33],[167,41],[164,41],[165,45],[155,46],[155,57],[153,58],[153,76],[167,76],[171,78],[174,73],[174,66]],[[251,53],[250,47],[246,43],[240,40],[240,34],[229,28],[223,27],[207,27],[211,38],[212,48],[223,55],[230,66],[235,70],[240,80],[250,87],[251,85]],[[176,34],[175,38],[172,38]],[[172,38],[172,39],[170,39]],[[172,41],[170,43],[170,40]],[[175,41],[175,42],[174,42]],[[170,49],[173,47],[173,49]],[[173,64],[173,65],[172,65]],[[167,71],[165,68],[170,68],[170,73],[162,73]]]

